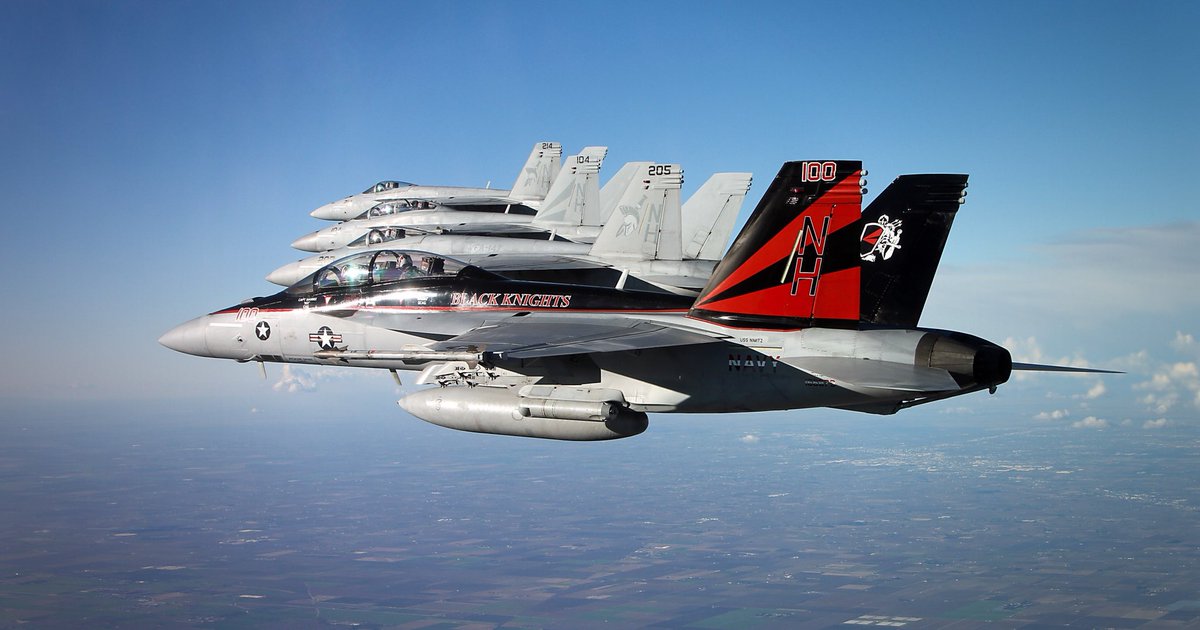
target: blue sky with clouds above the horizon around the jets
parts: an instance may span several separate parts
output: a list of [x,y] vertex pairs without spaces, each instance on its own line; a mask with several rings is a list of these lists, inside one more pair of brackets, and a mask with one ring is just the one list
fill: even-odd
[[1127,373],[930,413],[1200,422],[1198,26],[1183,1],[2,2],[0,403],[388,408],[385,374],[264,380],[156,340],[274,292],[326,202],[508,187],[557,140],[680,163],[684,198],[752,172],[743,217],[788,160],[863,160],[868,199],[968,173],[922,324]]

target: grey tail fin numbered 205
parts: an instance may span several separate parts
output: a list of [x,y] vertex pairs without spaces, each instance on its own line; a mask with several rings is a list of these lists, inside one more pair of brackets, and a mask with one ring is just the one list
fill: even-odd
[[648,164],[625,188],[617,209],[592,245],[592,256],[635,260],[680,260],[679,164]]

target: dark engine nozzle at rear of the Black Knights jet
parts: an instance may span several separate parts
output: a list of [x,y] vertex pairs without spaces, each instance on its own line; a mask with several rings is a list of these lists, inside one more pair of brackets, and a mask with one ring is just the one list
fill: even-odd
[[928,332],[917,344],[917,365],[946,370],[962,388],[1000,385],[1013,373],[1008,350],[960,332]]

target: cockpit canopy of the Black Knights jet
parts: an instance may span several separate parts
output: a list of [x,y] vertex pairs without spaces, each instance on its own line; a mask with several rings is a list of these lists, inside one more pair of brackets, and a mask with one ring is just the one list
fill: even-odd
[[337,259],[293,284],[292,293],[320,293],[412,278],[493,276],[461,260],[412,250],[382,250]]

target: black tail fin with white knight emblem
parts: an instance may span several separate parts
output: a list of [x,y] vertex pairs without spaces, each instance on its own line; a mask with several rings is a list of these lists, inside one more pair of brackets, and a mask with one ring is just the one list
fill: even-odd
[[900,175],[863,210],[863,323],[917,326],[966,187],[966,175]]

